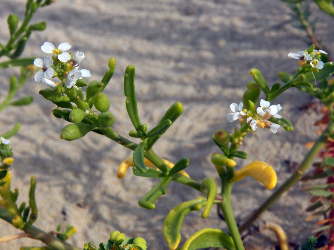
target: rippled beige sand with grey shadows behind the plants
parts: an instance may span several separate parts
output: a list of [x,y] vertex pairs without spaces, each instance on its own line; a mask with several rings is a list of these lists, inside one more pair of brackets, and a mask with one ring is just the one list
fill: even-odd
[[[10,12],[20,17],[24,0],[1,0],[1,42],[8,39],[6,19]],[[316,33],[333,51],[333,20],[322,15],[314,4],[312,17],[319,18]],[[126,115],[123,76],[127,65],[136,67],[136,91],[139,115],[152,128],[174,102],[184,106],[183,115],[156,143],[154,150],[163,158],[176,162],[190,159],[187,171],[197,181],[213,177],[218,181],[212,152],[218,148],[211,140],[215,130],[232,131],[237,122],[229,123],[229,105],[239,103],[245,83],[251,80],[251,68],[258,68],[270,85],[278,81],[281,70],[294,73],[297,61],[289,52],[306,49],[304,33],[292,26],[291,10],[276,0],[58,0],[40,9],[34,21],[45,20],[47,28],[35,32],[23,56],[44,58],[40,46],[50,41],[56,46],[72,44],[72,52],[82,51],[81,68],[89,69],[88,81],[101,79],[110,57],[116,58],[115,74],[106,88],[115,115],[115,131],[127,135],[132,128]],[[6,93],[14,69],[2,70],[1,95]],[[131,155],[109,139],[89,133],[72,142],[59,138],[67,124],[52,116],[51,102],[38,95],[44,88],[31,78],[19,92],[35,97],[32,105],[7,108],[0,115],[1,133],[21,122],[18,134],[11,138],[15,163],[12,186],[20,191],[19,201],[27,201],[30,176],[37,178],[39,216],[36,226],[45,231],[74,225],[77,233],[69,240],[76,246],[84,242],[107,241],[113,230],[130,237],[142,236],[149,249],[167,249],[162,236],[163,219],[175,205],[200,194],[178,183],[168,186],[168,194],[159,198],[154,210],[140,208],[137,201],[156,180],[136,177],[130,171],[124,179],[116,178],[121,161]],[[301,110],[310,97],[291,89],[275,104],[290,119],[295,129],[277,134],[258,129],[249,135],[244,146],[249,159],[238,161],[240,168],[253,160],[274,166],[278,185],[290,175],[285,160],[300,162],[307,153],[304,144],[316,138],[313,123],[319,117],[312,110]],[[290,242],[300,244],[310,236],[314,224],[304,222],[304,210],[310,196],[297,184],[257,221],[278,222],[288,233]],[[273,191],[247,178],[233,186],[232,205],[237,218],[255,209]],[[78,206],[80,204],[80,206]],[[239,221],[239,219],[238,219]],[[182,242],[205,227],[226,229],[213,210],[203,220],[200,212],[188,214],[182,226]],[[18,231],[0,222],[0,235]],[[33,240],[0,243],[0,249],[40,245]],[[245,239],[247,249],[272,249],[276,238],[271,232],[255,232]]]

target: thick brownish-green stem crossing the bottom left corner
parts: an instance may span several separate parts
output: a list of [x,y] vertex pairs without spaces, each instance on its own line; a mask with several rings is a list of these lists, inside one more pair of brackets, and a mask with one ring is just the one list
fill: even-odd
[[[13,217],[4,208],[0,208],[0,218],[9,223],[12,223],[13,219]],[[56,250],[82,250],[82,248],[73,247],[70,244],[61,241],[57,237],[54,237],[52,234],[46,233],[34,226],[29,226],[23,231],[29,234],[30,238],[40,240],[44,242],[44,244],[46,244],[47,246],[52,247]]]

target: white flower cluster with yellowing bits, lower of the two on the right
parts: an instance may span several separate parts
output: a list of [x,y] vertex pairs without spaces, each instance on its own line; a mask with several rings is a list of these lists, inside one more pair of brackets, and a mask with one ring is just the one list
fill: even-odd
[[230,107],[233,113],[229,113],[227,115],[227,120],[229,122],[233,122],[239,120],[240,122],[246,122],[249,126],[251,126],[253,132],[257,129],[257,125],[261,128],[268,128],[271,132],[277,133],[277,129],[281,127],[281,125],[270,122],[268,119],[270,117],[275,117],[281,119],[282,116],[278,114],[278,112],[282,109],[281,105],[270,105],[270,102],[261,99],[260,107],[257,108],[256,114],[253,112],[249,112],[246,109],[242,109],[243,103],[240,102],[237,105],[233,102]]

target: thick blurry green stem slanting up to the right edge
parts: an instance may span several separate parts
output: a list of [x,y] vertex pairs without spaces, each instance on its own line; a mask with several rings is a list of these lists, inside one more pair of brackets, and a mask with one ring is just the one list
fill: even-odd
[[318,152],[327,141],[329,134],[334,130],[334,122],[331,121],[321,136],[318,138],[316,143],[313,145],[311,150],[308,152],[298,169],[295,173],[279,188],[273,193],[257,210],[255,210],[251,216],[239,227],[239,231],[243,232],[253,222],[264,212],[266,211],[274,202],[276,202],[284,192],[286,192],[290,187],[292,187],[296,182],[298,182],[308,167],[313,162],[314,158],[317,156]]

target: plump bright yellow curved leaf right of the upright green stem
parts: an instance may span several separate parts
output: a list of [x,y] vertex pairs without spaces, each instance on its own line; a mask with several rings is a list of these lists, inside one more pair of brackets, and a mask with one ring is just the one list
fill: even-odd
[[253,161],[244,168],[236,171],[234,177],[229,182],[236,182],[246,176],[252,176],[254,179],[263,183],[268,189],[273,189],[277,183],[277,175],[272,166],[264,161]]

